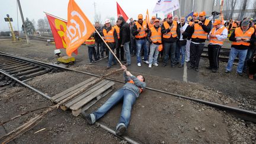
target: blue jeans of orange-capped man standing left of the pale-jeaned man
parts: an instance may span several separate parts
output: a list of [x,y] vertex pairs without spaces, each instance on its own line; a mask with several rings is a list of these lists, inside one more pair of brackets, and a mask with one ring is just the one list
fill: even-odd
[[140,50],[143,48],[144,50],[144,60],[148,60],[148,45],[146,42],[146,39],[143,40],[136,40],[136,46],[137,46],[137,63],[141,63],[140,60]]

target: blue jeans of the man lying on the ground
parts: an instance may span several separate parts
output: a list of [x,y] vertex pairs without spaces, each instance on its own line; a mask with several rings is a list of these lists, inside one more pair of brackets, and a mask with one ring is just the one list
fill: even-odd
[[114,92],[110,98],[94,113],[94,117],[92,117],[92,123],[100,119],[110,110],[111,107],[119,103],[119,101],[123,100],[123,108],[121,111],[121,117],[119,120],[119,125],[124,124],[124,126],[128,127],[130,122],[130,115],[132,111],[132,105],[136,101],[136,95],[134,92],[130,91],[129,89],[119,89],[118,91]]

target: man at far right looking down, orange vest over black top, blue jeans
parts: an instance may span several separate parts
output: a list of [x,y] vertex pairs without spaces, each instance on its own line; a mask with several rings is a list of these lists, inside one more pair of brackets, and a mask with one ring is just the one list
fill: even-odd
[[226,73],[230,73],[233,66],[233,60],[238,55],[239,62],[236,68],[236,73],[242,76],[242,70],[244,67],[245,57],[247,55],[247,50],[251,43],[255,41],[255,30],[249,27],[249,21],[242,21],[241,27],[238,27],[233,31],[229,37],[232,42],[231,52],[229,53],[229,61],[226,66]]

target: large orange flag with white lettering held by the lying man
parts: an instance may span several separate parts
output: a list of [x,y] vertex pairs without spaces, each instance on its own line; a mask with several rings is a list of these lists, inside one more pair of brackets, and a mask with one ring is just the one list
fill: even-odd
[[81,46],[94,31],[94,25],[91,24],[76,2],[74,0],[69,0],[68,24],[65,33],[67,55],[71,56],[72,52],[78,49],[78,47]]

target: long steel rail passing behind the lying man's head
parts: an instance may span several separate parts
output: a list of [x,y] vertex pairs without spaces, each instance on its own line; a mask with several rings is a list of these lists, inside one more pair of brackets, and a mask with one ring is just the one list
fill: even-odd
[[[0,53],[2,53],[2,52],[0,52]],[[8,54],[8,53],[5,53],[5,54],[11,55],[11,54]],[[14,55],[12,55],[12,56],[14,56]],[[20,57],[20,56],[18,56],[18,57]],[[22,57],[22,58],[23,58],[23,59],[28,59],[28,58],[26,58],[26,57]],[[32,60],[32,59],[30,59],[30,60]],[[39,62],[39,61],[37,61],[37,60],[34,60],[34,61]],[[44,63],[44,62],[41,62],[41,63]],[[63,67],[61,67],[61,66],[52,65],[52,64],[49,64],[49,63],[44,63],[44,64],[45,64],[45,65],[50,65],[50,66],[55,66],[56,68],[65,69],[65,70],[67,70],[67,71],[85,73],[85,74],[87,74],[87,75],[101,77],[100,75],[95,75],[95,74],[89,73],[89,72],[82,72],[82,71],[77,71],[77,70],[75,70],[75,69],[63,68]],[[120,82],[120,83],[123,83],[123,84],[124,84],[123,81],[119,81],[119,80],[117,80],[117,79],[113,79],[113,78],[106,78],[106,79],[111,80],[111,81]],[[200,100],[200,99],[197,99],[197,98],[187,97],[187,96],[184,96],[184,95],[178,95],[178,94],[174,94],[174,93],[171,93],[171,92],[162,91],[162,90],[155,89],[155,88],[146,87],[146,89],[150,89],[150,90],[152,90],[152,91],[161,92],[161,93],[168,94],[168,95],[173,95],[173,96],[175,96],[175,97],[184,98],[184,99],[191,100],[191,101],[196,101],[197,103],[206,104],[206,105],[209,105],[209,106],[211,106],[211,107],[219,108],[219,109],[221,109],[221,110],[229,110],[229,111],[236,112],[236,113],[247,114],[247,115],[249,116],[249,118],[244,117],[243,119],[249,120],[249,121],[252,121],[252,122],[256,123],[256,112],[254,112],[254,111],[244,110],[244,109],[242,109],[242,108],[230,107],[230,106],[228,106],[228,105],[217,104],[217,103],[213,103],[213,102],[209,102],[209,101]]]

